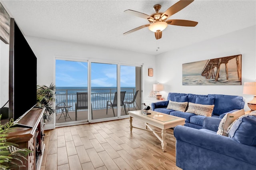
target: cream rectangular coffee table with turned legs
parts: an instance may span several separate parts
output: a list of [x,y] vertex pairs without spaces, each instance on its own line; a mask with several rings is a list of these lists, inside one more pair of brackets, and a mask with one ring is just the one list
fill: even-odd
[[[181,117],[172,116],[172,115],[167,115],[164,113],[159,113],[156,111],[151,111],[151,110],[148,111],[151,113],[150,115],[146,115],[143,112],[145,112],[145,111],[140,110],[140,111],[129,111],[128,112],[129,116],[130,116],[130,131],[132,132],[132,128],[138,128],[141,130],[148,130],[147,128],[149,128],[150,131],[152,131],[154,133],[154,135],[156,135],[156,137],[161,141],[162,150],[165,151],[166,146],[167,146],[167,143],[165,141],[166,129],[176,127],[177,125],[184,125],[186,119],[181,118]],[[145,122],[146,129],[132,126],[132,118],[133,117]],[[158,127],[160,129],[162,129],[162,132],[154,131],[153,128],[150,127],[149,124],[153,125],[154,127]],[[162,138],[160,136],[158,136],[157,133],[161,133]]]

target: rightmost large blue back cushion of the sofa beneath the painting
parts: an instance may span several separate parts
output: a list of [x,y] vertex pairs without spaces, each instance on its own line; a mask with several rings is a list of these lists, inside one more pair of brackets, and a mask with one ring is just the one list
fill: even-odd
[[212,111],[214,115],[221,115],[234,109],[244,109],[245,99],[242,96],[208,94],[208,97],[215,98],[215,107]]

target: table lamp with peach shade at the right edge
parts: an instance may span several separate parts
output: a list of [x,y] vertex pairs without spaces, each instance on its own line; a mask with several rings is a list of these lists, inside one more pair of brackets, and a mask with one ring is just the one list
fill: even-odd
[[244,82],[243,94],[254,95],[252,101],[248,102],[248,107],[252,110],[256,110],[256,82]]

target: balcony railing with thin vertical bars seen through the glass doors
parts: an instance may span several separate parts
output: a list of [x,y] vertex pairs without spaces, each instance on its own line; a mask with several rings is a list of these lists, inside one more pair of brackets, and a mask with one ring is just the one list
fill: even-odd
[[[121,91],[126,91],[124,101],[133,99],[135,88],[121,88]],[[56,90],[56,95],[55,95],[56,105],[60,102],[65,102],[66,105],[72,106],[69,111],[75,111],[75,103],[77,101],[76,92],[87,92],[87,90],[85,89]],[[91,92],[92,109],[105,109],[107,107],[107,101],[113,102],[115,92],[116,92],[116,89],[92,89],[92,92]],[[57,110],[56,112],[59,113],[60,110]]]

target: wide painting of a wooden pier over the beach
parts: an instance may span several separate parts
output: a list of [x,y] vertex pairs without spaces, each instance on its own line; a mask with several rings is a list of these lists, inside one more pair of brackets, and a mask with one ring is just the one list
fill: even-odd
[[241,85],[242,55],[182,64],[182,85]]

